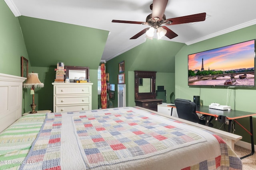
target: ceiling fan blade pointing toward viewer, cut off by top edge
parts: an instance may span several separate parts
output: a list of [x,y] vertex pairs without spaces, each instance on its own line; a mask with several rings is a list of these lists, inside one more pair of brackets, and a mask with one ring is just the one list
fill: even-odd
[[153,0],[153,8],[152,8],[152,19],[159,18],[162,20],[164,15],[165,8],[167,6],[168,0]]

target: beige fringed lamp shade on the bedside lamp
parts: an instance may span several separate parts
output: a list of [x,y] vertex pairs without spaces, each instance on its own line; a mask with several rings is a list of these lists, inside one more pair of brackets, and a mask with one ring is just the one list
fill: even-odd
[[26,82],[23,84],[23,88],[42,88],[44,87],[44,83],[41,83],[40,80],[38,79],[38,73],[28,73],[28,78]]

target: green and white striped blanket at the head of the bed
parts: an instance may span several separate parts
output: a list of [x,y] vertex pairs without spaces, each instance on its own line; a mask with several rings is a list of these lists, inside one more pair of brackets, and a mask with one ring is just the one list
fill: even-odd
[[45,113],[21,117],[0,133],[0,169],[19,169],[36,139]]

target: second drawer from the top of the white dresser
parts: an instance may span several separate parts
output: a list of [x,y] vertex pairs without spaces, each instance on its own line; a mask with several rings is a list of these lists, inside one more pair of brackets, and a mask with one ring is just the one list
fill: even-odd
[[63,104],[87,104],[91,96],[55,96],[55,105]]

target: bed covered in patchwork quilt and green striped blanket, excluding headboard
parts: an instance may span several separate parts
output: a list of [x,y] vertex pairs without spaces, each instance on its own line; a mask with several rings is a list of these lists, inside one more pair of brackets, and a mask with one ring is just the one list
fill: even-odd
[[0,133],[0,169],[242,170],[242,163],[211,131],[120,107],[20,117]]

